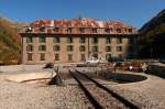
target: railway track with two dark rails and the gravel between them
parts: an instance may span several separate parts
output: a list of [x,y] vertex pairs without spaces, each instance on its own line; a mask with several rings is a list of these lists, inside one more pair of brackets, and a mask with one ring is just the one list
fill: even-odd
[[[96,109],[139,109],[138,106],[90,78],[85,73],[69,72]],[[90,83],[90,85],[86,83]]]

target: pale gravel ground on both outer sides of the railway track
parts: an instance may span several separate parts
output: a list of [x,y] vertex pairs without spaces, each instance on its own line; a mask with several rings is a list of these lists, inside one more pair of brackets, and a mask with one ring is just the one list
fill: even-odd
[[[65,72],[67,73],[67,69]],[[0,73],[0,109],[94,108],[77,86],[58,87],[46,86],[43,83],[13,83],[4,80],[4,73]],[[155,76],[148,77],[146,81],[109,85],[109,88],[142,109],[165,109],[165,80]]]

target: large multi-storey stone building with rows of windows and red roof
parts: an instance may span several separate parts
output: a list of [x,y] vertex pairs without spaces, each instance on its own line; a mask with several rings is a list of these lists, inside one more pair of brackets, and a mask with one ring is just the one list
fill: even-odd
[[95,57],[134,57],[138,31],[122,22],[92,19],[37,20],[24,26],[22,63],[82,62]]

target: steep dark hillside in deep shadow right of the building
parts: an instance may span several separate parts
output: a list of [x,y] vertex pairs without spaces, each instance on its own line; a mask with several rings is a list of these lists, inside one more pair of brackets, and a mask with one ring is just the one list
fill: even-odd
[[165,9],[145,23],[139,32],[141,57],[165,56]]

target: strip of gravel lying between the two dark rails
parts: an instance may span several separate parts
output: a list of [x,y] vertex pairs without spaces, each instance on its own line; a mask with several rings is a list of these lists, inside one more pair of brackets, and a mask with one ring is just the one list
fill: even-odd
[[[103,109],[128,109],[122,102],[112,97],[109,92],[100,89],[92,81],[86,77],[75,74],[74,75],[84,84],[88,91],[96,98],[96,100],[103,107]],[[86,83],[89,83],[88,85]]]

